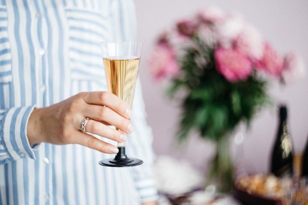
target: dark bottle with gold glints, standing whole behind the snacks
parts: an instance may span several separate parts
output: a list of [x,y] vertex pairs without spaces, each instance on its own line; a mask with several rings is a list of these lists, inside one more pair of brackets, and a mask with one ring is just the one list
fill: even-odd
[[293,176],[292,141],[287,123],[287,108],[279,106],[279,124],[272,149],[271,173],[277,177]]

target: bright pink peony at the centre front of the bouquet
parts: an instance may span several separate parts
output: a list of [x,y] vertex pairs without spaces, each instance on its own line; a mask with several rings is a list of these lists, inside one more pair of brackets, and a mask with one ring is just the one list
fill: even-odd
[[218,72],[230,82],[246,80],[252,72],[250,59],[236,49],[219,48],[214,57]]

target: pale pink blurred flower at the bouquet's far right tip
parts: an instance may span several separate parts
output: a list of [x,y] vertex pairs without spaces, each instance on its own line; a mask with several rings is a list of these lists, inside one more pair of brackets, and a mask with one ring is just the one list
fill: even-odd
[[294,53],[289,53],[284,58],[284,68],[282,71],[282,81],[292,83],[306,75],[304,61]]

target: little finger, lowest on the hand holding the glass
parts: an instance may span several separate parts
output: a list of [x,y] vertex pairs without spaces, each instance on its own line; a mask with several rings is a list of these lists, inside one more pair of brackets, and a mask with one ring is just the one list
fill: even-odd
[[113,146],[109,143],[103,142],[96,137],[86,134],[86,133],[78,133],[75,136],[75,140],[77,144],[82,146],[87,146],[91,149],[95,149],[100,152],[109,153],[109,154],[116,154],[119,152],[118,147]]

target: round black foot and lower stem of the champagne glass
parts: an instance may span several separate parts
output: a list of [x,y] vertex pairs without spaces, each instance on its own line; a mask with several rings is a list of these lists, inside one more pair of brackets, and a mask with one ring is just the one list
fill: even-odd
[[107,167],[133,167],[143,163],[140,159],[128,158],[125,154],[125,147],[118,147],[119,152],[114,159],[104,159],[98,164]]

